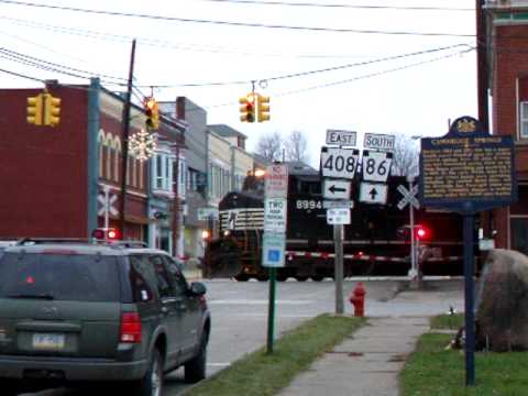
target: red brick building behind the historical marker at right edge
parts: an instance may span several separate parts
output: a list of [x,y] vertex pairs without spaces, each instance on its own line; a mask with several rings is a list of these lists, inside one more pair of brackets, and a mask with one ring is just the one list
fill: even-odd
[[528,254],[528,1],[487,0],[488,88],[493,133],[512,135],[519,186],[516,204],[493,211],[497,248]]

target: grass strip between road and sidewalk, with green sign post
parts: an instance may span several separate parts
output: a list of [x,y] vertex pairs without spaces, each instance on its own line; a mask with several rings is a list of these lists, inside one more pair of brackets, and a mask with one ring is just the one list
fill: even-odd
[[324,352],[365,320],[321,315],[286,332],[274,342],[273,354],[262,348],[217,375],[189,388],[186,396],[275,395]]

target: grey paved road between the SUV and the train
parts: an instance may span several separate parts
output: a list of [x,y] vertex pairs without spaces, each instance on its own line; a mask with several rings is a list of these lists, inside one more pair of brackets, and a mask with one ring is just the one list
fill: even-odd
[[[233,280],[205,280],[208,288],[208,301],[212,315],[212,332],[209,344],[208,375],[266,343],[268,283]],[[344,282],[345,314],[353,308],[346,297],[356,280]],[[461,282],[429,283],[438,290],[461,288]],[[400,287],[399,282],[366,282],[367,316],[424,315],[424,307],[414,302],[393,304],[392,298]],[[439,298],[437,309],[449,308],[449,300]],[[455,304],[452,302],[452,304]],[[441,306],[441,307],[440,307]],[[461,310],[462,307],[457,306]],[[428,308],[426,308],[428,309]],[[301,321],[322,312],[334,312],[336,287],[333,282],[284,282],[277,284],[276,294],[276,336],[299,324]],[[167,376],[164,396],[177,395],[186,386],[183,370]],[[77,396],[79,392],[50,391],[33,396]]]

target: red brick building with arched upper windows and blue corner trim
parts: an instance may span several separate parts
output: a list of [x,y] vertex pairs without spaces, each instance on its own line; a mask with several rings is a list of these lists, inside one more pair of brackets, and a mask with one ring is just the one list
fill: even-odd
[[[26,98],[42,89],[0,89],[0,238],[86,238],[103,226],[98,196],[105,188],[117,196],[113,207],[120,209],[123,99],[98,79],[87,86],[48,84],[47,90],[62,99],[55,128],[26,123]],[[143,125],[143,111],[133,106],[130,135]],[[165,136],[174,139],[185,131],[176,121],[165,128]],[[153,221],[148,162],[130,155],[128,170],[121,232],[147,241]],[[109,217],[110,227],[120,226],[119,213]]]

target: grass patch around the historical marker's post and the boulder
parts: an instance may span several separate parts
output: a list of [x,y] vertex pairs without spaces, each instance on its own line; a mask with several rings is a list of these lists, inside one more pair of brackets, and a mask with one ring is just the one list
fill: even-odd
[[465,358],[446,350],[452,336],[424,334],[400,374],[402,396],[526,396],[526,352],[475,352],[475,386],[465,386]]

